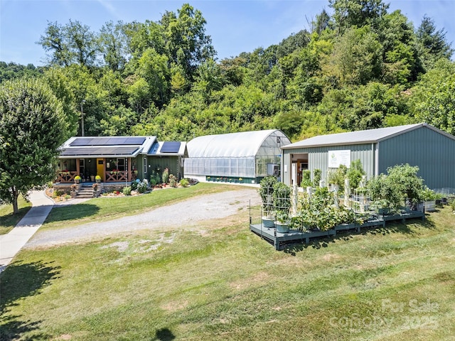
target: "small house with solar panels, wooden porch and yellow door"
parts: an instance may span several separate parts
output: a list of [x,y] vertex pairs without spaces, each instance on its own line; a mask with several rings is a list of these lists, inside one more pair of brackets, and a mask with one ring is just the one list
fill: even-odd
[[183,178],[183,160],[188,156],[186,142],[162,142],[156,136],[76,136],[60,147],[55,183],[83,182],[99,175],[105,183],[125,183],[149,179],[152,173]]

